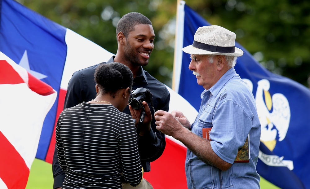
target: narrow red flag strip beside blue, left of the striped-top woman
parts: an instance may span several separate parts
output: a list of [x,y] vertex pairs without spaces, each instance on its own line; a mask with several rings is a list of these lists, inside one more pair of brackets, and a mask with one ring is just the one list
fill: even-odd
[[[59,114],[64,110],[64,99],[66,97],[66,93],[67,93],[67,90],[63,90],[63,89],[59,90],[59,98],[58,98],[58,106],[57,106],[55,126],[57,124]],[[47,151],[46,158],[45,158],[45,161],[48,163],[53,162],[55,143],[56,143],[56,138],[55,138],[55,127],[54,127],[50,146],[48,147],[48,151]]]

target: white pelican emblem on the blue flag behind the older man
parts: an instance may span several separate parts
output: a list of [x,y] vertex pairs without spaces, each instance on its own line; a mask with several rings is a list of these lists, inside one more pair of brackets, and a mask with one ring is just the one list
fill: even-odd
[[[253,90],[252,82],[243,80]],[[255,102],[262,127],[260,140],[273,151],[277,140],[281,142],[286,137],[290,125],[290,105],[283,94],[269,93],[270,82],[267,79],[259,80],[257,85]]]

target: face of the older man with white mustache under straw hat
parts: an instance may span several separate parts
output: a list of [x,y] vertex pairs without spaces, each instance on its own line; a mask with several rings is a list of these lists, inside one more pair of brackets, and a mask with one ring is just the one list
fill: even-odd
[[191,59],[188,68],[196,76],[198,85],[209,90],[222,76],[218,64],[218,55],[211,57],[211,59],[208,55],[191,55]]

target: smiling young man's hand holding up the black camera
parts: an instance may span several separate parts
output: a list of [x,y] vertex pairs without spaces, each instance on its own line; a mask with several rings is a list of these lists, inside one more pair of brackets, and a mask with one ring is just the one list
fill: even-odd
[[[142,104],[143,104],[143,107],[145,109],[145,114],[144,114],[144,120],[142,122],[141,130],[139,132],[140,136],[143,136],[144,134],[147,134],[150,132],[151,122],[153,119],[150,107],[148,107],[148,103],[143,101]],[[137,127],[139,120],[141,118],[142,108],[140,108],[139,110],[136,110],[136,109],[132,108],[131,105],[129,105],[129,110],[130,110],[132,118],[136,120],[135,126]]]

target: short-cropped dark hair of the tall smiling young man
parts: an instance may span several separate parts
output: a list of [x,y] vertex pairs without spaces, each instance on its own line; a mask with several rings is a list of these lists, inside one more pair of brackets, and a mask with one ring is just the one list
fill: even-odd
[[122,18],[118,21],[116,27],[116,36],[117,33],[122,32],[124,33],[125,37],[128,36],[129,32],[135,30],[135,25],[138,24],[150,24],[152,22],[143,14],[139,12],[130,12],[126,15],[123,15]]

